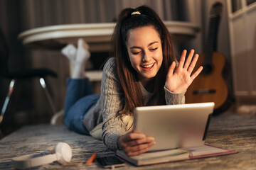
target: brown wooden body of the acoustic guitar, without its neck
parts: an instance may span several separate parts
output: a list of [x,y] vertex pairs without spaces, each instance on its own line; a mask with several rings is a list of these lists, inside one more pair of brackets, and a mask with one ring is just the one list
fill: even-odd
[[[205,55],[198,58],[194,70],[203,65]],[[201,74],[194,79],[191,86],[186,91],[186,103],[214,102],[214,109],[218,109],[225,104],[228,99],[228,86],[223,79],[222,72],[225,67],[225,57],[220,52],[213,52],[212,69],[207,74]]]

